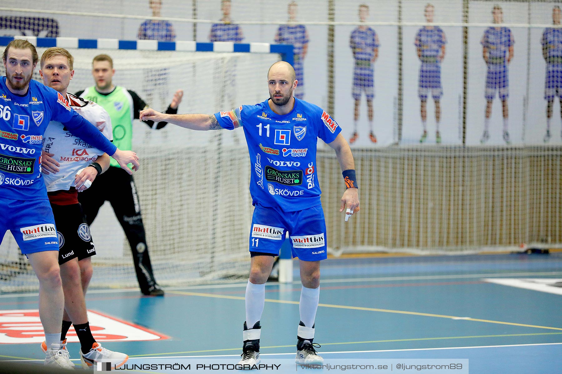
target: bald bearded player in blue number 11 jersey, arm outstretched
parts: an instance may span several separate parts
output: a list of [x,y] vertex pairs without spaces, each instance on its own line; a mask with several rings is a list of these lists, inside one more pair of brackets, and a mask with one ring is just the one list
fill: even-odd
[[294,98],[297,83],[293,67],[279,61],[269,69],[270,98],[262,103],[242,105],[210,116],[162,114],[153,109],[140,112],[141,119],[167,121],[192,130],[237,127],[244,130],[252,170],[250,194],[255,209],[249,242],[251,265],[246,287],[243,353],[239,363],[250,367],[260,362],[265,282],[286,232],[293,257],[300,260],[302,281],[296,362],[323,363],[312,343],[320,295],[320,260],[327,257],[327,232],[316,170],[318,138],[336,151],[343,170],[347,189],[339,211],[347,208],[347,217],[359,211],[355,164],[341,128],[323,109]]

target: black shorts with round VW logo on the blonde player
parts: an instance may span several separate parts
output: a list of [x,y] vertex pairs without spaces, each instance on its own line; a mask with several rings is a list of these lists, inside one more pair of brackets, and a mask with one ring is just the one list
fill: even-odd
[[58,264],[62,265],[72,258],[78,261],[92,257],[96,248],[90,234],[90,227],[80,204],[51,204],[58,235]]

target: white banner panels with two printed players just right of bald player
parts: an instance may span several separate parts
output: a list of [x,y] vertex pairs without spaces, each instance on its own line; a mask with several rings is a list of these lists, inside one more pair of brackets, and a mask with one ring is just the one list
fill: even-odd
[[[352,2],[353,3],[353,2]],[[396,17],[397,3],[381,10],[356,1],[357,19],[341,21],[388,21]],[[427,22],[423,27],[403,27],[402,137],[401,144],[460,144],[462,141],[463,65],[462,30],[440,27],[439,22],[461,22],[461,4],[440,0],[403,2],[402,20]],[[384,5],[384,4],[380,4]],[[349,4],[346,4],[349,7]],[[336,9],[336,15],[338,14]],[[347,12],[350,13],[350,12]],[[383,17],[382,19],[381,17]],[[456,19],[451,20],[454,15]],[[339,21],[339,20],[338,20]],[[436,23],[436,25],[431,25]],[[348,35],[349,56],[339,54],[336,77],[336,116],[352,119],[344,130],[353,147],[373,147],[398,142],[397,27],[358,25],[336,35]],[[341,41],[337,50],[343,50]],[[339,48],[339,49],[338,49]],[[341,56],[343,55],[343,56]],[[341,69],[339,67],[342,67]],[[348,69],[347,69],[348,67]],[[351,92],[350,92],[351,78]],[[351,95],[350,95],[351,94]]]

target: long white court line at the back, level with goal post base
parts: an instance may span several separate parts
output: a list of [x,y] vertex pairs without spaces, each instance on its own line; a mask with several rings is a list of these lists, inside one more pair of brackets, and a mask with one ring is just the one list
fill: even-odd
[[[429,279],[470,279],[470,278],[505,278],[514,276],[534,276],[534,275],[562,275],[562,271],[543,271],[533,273],[491,273],[491,274],[451,274],[451,275],[418,275],[418,276],[386,276],[376,278],[342,278],[342,279],[321,279],[320,283],[354,283],[354,282],[377,282],[377,281],[392,281],[392,280],[429,280]],[[287,284],[301,284],[300,280],[292,281]],[[225,283],[225,284],[209,284],[209,285],[193,285],[193,286],[175,286],[165,287],[167,290],[184,290],[184,289],[212,289],[212,288],[236,288],[246,287],[246,283]],[[284,285],[279,282],[268,282],[266,285]],[[120,292],[134,292],[139,293],[138,288],[121,288],[121,289],[92,289],[88,290],[89,294],[103,294],[103,293],[120,293]],[[38,297],[39,293],[7,293],[1,294],[0,298],[12,297]],[[140,295],[139,295],[140,297]]]

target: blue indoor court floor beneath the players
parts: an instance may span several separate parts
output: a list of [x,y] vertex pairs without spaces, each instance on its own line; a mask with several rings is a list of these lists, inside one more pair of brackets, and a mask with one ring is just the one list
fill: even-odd
[[[262,359],[294,358],[301,290],[294,265],[296,281],[266,286]],[[314,341],[326,359],[468,359],[471,374],[559,373],[558,282],[562,253],[328,259],[321,266]],[[236,363],[245,287],[246,281],[166,288],[165,297],[89,290],[90,325],[100,326],[94,336],[104,347],[129,354],[132,362],[198,357]],[[2,361],[43,360],[37,342],[25,343],[42,341],[35,331],[37,301],[36,293],[0,294]],[[68,348],[79,363],[79,343]]]

